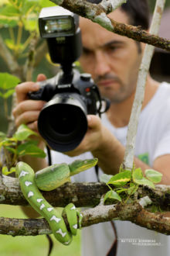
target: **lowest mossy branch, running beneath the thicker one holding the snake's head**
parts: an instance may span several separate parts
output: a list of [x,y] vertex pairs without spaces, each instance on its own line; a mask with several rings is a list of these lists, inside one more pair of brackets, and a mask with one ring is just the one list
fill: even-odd
[[[110,221],[113,219],[129,220],[138,226],[146,227],[149,230],[155,230],[159,233],[170,234],[170,218],[162,214],[155,215],[148,213],[138,202],[111,206],[97,206],[93,209],[87,209],[82,212],[82,227],[88,227],[93,224]],[[66,216],[63,216],[66,227],[69,225]],[[51,234],[49,225],[44,219],[40,220],[22,220],[0,218],[0,234],[12,236],[36,236],[40,234]]]

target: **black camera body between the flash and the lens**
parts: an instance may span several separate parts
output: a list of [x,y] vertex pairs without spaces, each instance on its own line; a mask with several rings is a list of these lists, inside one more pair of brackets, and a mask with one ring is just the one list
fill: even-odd
[[59,72],[55,77],[41,81],[40,85],[39,91],[29,93],[31,99],[49,102],[61,94],[63,95],[63,102],[65,102],[66,99],[70,99],[70,95],[77,94],[86,106],[87,114],[100,115],[102,99],[90,74],[80,74],[79,71],[73,69],[70,77],[66,76],[65,78],[63,72]]

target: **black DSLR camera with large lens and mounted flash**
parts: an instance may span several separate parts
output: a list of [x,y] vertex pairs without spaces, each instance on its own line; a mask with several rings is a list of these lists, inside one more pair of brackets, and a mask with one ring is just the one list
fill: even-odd
[[39,114],[39,133],[53,150],[66,152],[76,148],[87,133],[87,114],[100,116],[109,102],[101,99],[90,74],[80,74],[73,65],[82,53],[79,16],[60,6],[43,8],[39,32],[60,71],[39,82],[39,91],[30,92],[29,98],[46,101]]

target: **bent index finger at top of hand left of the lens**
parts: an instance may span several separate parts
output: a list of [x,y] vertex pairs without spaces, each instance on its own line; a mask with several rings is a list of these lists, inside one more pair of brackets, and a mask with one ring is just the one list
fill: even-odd
[[32,81],[26,81],[15,87],[17,102],[22,102],[28,99],[28,92],[36,92],[39,90],[39,84]]

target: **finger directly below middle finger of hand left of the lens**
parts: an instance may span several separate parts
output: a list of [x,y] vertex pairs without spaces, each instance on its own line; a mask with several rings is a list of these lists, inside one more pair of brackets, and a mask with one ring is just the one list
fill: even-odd
[[20,126],[22,123],[28,124],[37,121],[39,117],[39,111],[27,111],[23,112],[15,119],[15,125]]

